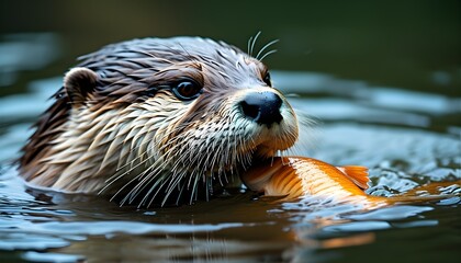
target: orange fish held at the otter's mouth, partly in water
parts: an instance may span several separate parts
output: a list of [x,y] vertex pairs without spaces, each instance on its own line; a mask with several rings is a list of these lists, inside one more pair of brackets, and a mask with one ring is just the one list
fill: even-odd
[[[293,199],[314,196],[375,208],[395,203],[441,199],[447,196],[382,197],[364,193],[368,188],[368,168],[358,165],[334,167],[305,157],[284,157],[251,167],[241,176],[252,191],[267,196]],[[453,184],[451,182],[450,184]],[[436,185],[432,185],[436,187]]]

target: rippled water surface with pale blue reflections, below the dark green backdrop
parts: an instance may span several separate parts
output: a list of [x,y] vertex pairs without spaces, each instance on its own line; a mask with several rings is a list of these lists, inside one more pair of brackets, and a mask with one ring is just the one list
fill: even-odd
[[[460,125],[453,121],[461,117],[460,98],[323,73],[272,77],[283,92],[301,95],[290,100],[302,116],[323,122],[315,137],[303,135],[293,153],[370,167],[368,192],[374,195],[427,195],[419,185],[442,181],[452,183],[430,194],[461,193]],[[60,77],[35,80],[27,93],[0,98],[0,259],[363,262],[366,254],[389,262],[407,253],[411,260],[434,259],[439,248],[445,252],[437,260],[459,255],[457,196],[366,211],[312,197],[280,204],[241,193],[194,206],[136,209],[98,196],[27,190],[8,163],[60,85]],[[312,148],[302,147],[311,141]]]

